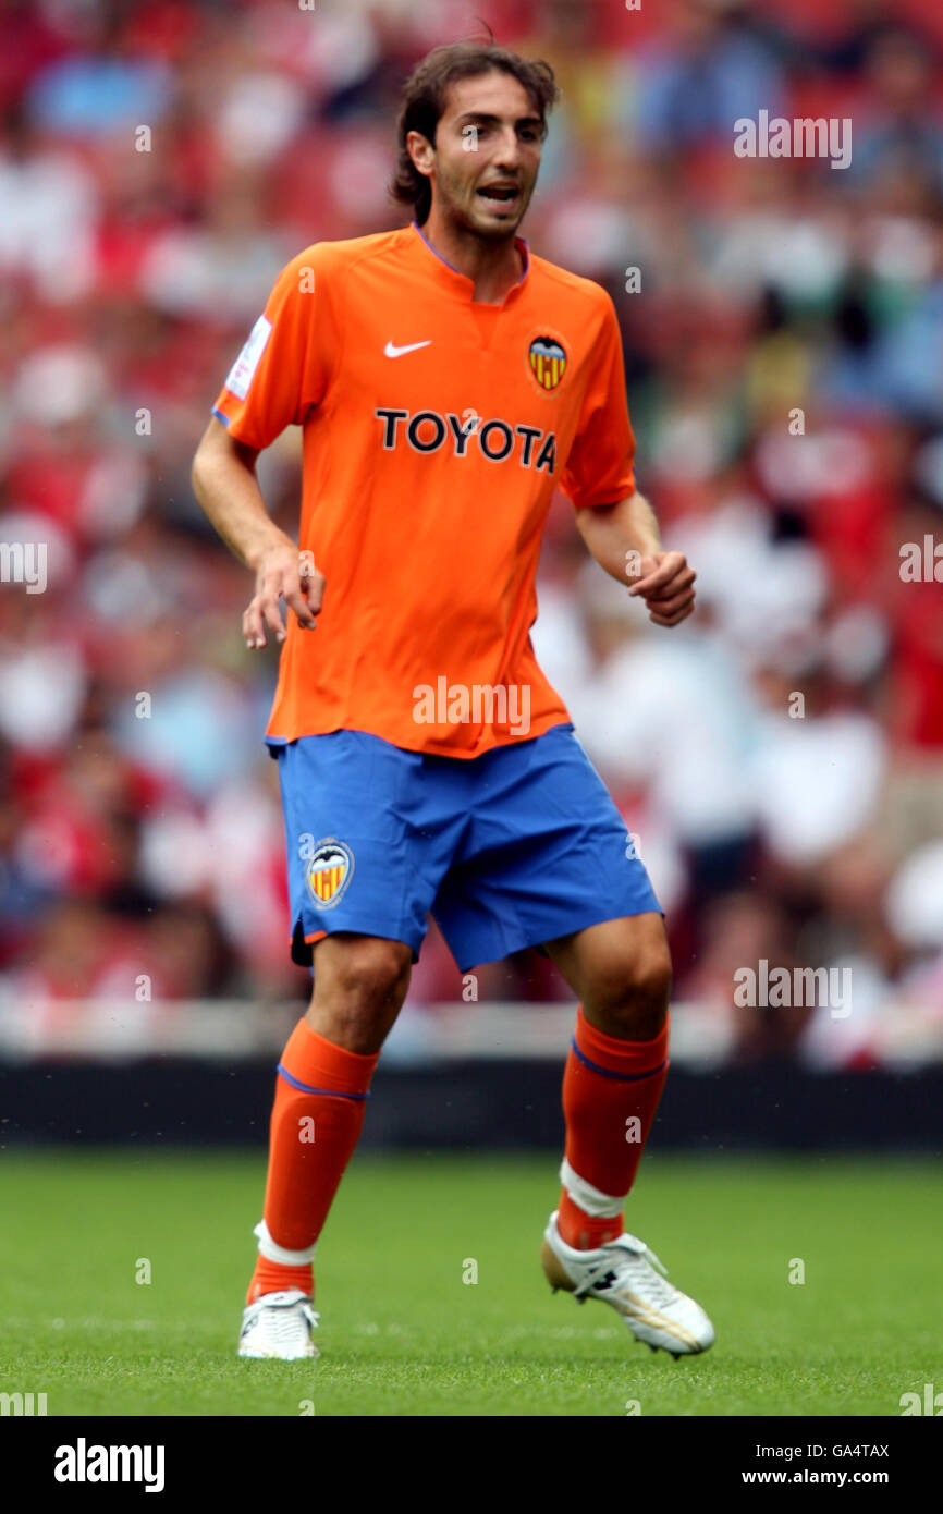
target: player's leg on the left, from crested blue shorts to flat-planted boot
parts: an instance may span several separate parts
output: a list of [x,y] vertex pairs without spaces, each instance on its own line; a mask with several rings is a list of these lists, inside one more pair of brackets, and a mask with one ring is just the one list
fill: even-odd
[[[313,1254],[363,1126],[453,831],[422,757],[360,731],[279,751],[292,957],[315,977],[279,1063],[241,1355],[315,1355]],[[454,807],[454,805],[453,805]]]

